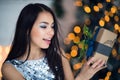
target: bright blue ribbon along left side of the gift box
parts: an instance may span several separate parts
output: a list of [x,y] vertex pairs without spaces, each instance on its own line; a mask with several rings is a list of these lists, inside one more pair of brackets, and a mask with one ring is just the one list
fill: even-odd
[[95,42],[95,40],[96,40],[96,37],[97,37],[97,35],[98,35],[99,30],[100,30],[100,27],[98,27],[98,28],[95,30],[95,35],[94,35],[93,39],[91,39],[91,40],[89,41],[88,50],[87,50],[87,52],[86,52],[86,57],[87,57],[87,59],[88,59],[90,56],[92,56],[93,49],[94,49],[94,42]]

